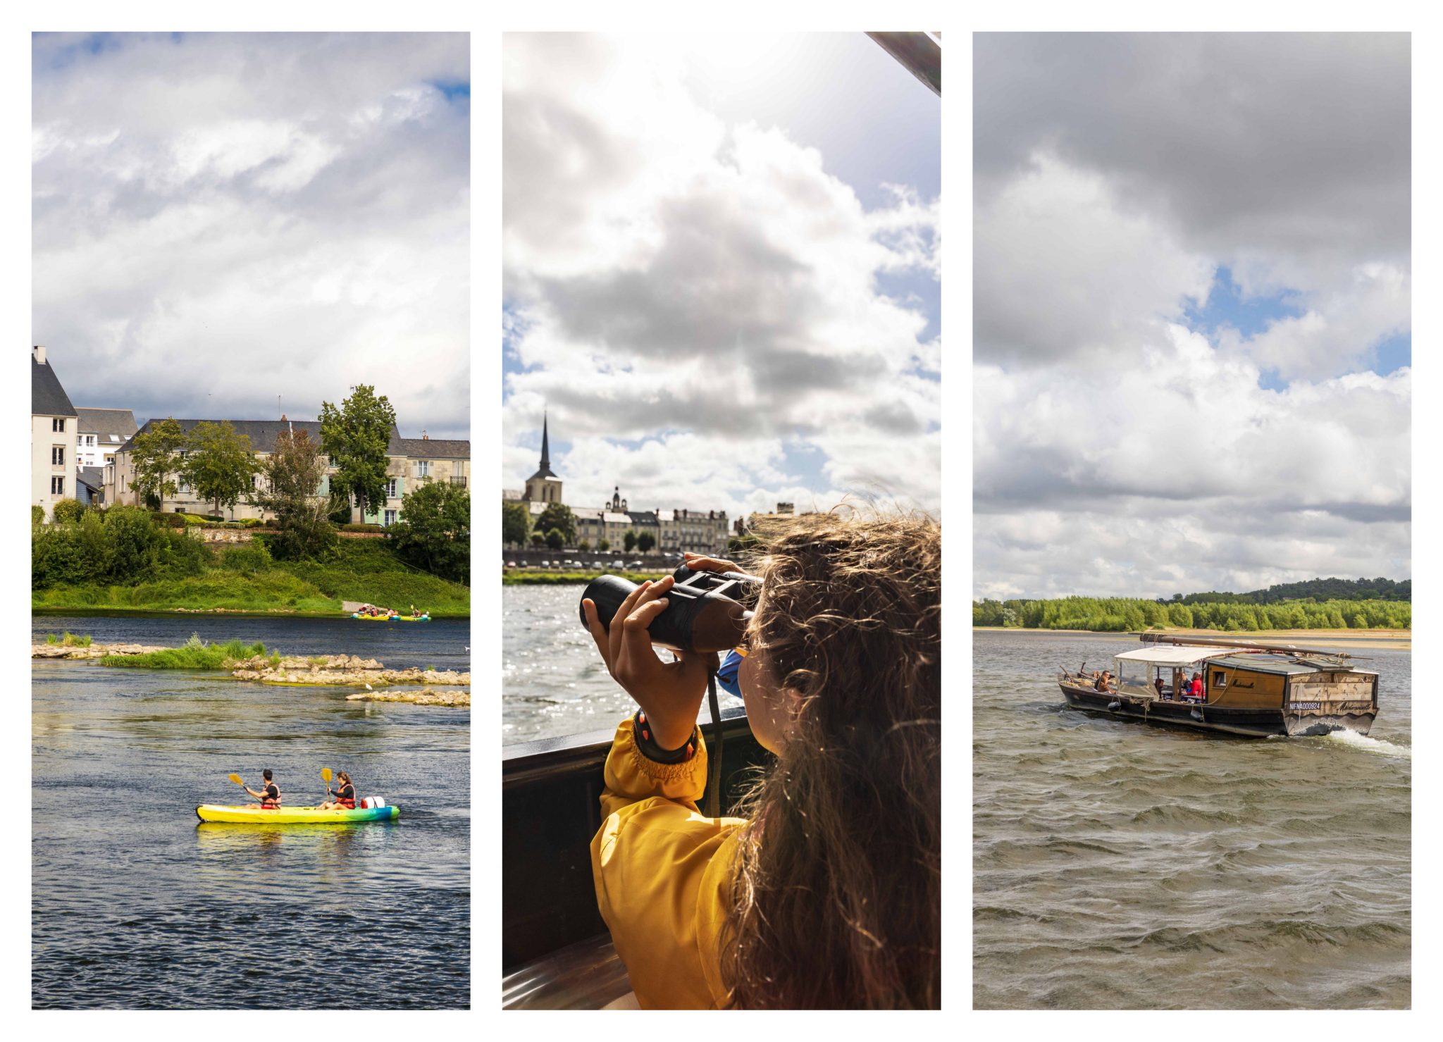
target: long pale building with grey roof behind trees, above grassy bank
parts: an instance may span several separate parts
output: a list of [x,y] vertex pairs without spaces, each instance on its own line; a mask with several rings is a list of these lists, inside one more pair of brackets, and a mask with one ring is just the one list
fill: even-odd
[[[156,423],[159,421],[147,420],[136,432],[136,436],[150,433]],[[176,423],[180,426],[180,430],[189,433],[198,423],[206,421],[176,420]],[[293,433],[304,432],[313,445],[320,445],[319,420],[290,420],[283,416],[280,420],[209,420],[208,423],[229,423],[237,434],[244,434],[250,439],[251,449],[254,449],[255,456],[260,459],[270,456],[276,450],[276,439],[287,430]],[[144,505],[140,502],[140,495],[136,491],[136,468],[130,457],[136,436],[127,439],[115,452],[114,460],[105,466],[104,486],[107,504]],[[183,455],[182,452],[182,457]],[[400,430],[392,426],[387,456],[385,505],[380,511],[365,514],[358,507],[352,507],[352,521],[390,527],[401,520],[403,496],[418,483],[449,481],[453,485],[466,486],[470,481],[470,442],[466,440],[433,440],[424,436],[404,439]],[[317,499],[330,495],[330,475],[333,473],[335,468],[328,466],[326,476],[322,478],[316,489]],[[264,478],[255,475],[251,483],[258,485],[261,481]],[[193,489],[180,483],[176,495],[167,496],[162,502],[160,509],[165,512],[209,514],[214,509],[214,504],[199,499]],[[228,521],[244,521],[247,518],[266,520],[268,514],[242,499],[225,511],[225,518]]]

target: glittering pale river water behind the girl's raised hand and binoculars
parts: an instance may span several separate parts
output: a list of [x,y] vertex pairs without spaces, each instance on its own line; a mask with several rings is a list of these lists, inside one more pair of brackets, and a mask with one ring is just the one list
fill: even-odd
[[[584,589],[501,587],[502,745],[612,730],[636,710],[582,626]],[[726,691],[717,694],[722,709],[740,704]],[[709,719],[703,703],[701,720]]]

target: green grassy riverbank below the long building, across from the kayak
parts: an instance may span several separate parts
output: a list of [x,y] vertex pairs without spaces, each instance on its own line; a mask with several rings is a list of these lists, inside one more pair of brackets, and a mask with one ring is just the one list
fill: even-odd
[[244,612],[341,615],[343,600],[431,618],[470,615],[470,589],[407,567],[381,540],[342,540],[325,561],[257,561],[247,550],[211,553],[201,574],[134,585],[66,585],[32,590],[30,608],[53,610]]

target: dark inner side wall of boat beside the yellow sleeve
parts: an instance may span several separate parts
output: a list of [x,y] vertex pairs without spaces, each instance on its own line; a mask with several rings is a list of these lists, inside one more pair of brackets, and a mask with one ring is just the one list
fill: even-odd
[[[740,706],[723,710],[722,717],[722,810],[727,813],[746,769],[765,763],[769,753],[752,737]],[[706,723],[703,727],[709,730]],[[592,732],[502,750],[504,973],[606,934],[596,908],[590,843],[602,827],[602,766],[613,733]]]

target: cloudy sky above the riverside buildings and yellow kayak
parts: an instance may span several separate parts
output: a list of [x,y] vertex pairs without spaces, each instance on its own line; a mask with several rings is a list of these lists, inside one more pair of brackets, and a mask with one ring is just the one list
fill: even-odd
[[469,123],[465,33],[36,36],[30,342],[76,406],[468,437]]

